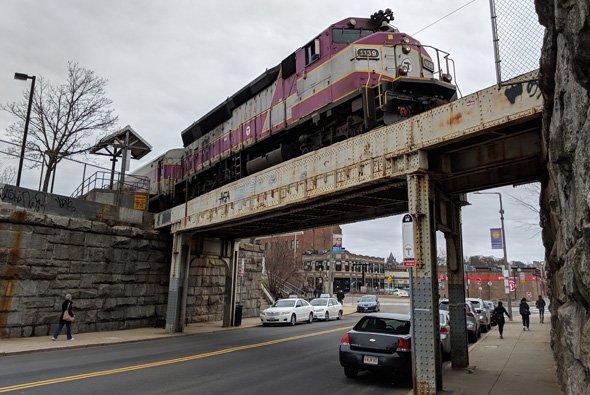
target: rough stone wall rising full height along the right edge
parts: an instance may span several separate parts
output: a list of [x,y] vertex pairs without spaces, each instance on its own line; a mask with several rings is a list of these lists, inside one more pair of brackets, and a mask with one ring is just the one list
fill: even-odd
[[536,0],[541,56],[541,220],[549,272],[551,346],[566,394],[590,393],[590,8]]

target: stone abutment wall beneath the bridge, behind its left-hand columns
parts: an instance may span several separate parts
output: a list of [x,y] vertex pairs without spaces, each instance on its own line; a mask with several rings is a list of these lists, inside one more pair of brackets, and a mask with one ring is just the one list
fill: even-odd
[[[242,317],[260,314],[262,291],[262,247],[240,243],[236,302],[242,304]],[[241,272],[244,262],[243,275]],[[215,257],[192,257],[187,289],[186,324],[223,319],[227,265]]]

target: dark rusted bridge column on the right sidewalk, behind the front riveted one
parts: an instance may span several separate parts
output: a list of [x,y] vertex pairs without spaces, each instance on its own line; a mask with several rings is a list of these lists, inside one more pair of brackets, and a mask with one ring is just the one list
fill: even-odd
[[451,364],[455,369],[469,366],[465,318],[465,279],[463,276],[463,236],[461,206],[464,195],[439,199],[439,229],[445,235],[447,249],[447,294],[451,318]]

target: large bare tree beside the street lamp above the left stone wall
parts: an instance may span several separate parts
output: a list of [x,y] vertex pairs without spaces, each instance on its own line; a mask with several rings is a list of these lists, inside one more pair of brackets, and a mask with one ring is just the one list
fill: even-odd
[[[106,85],[106,79],[73,62],[68,63],[65,84],[54,86],[43,77],[38,79],[26,148],[37,161],[28,166],[36,167],[41,162],[45,168],[43,191],[47,191],[51,174],[62,159],[87,152],[117,122],[112,101],[105,97]],[[7,129],[18,146],[22,144],[28,102],[26,91],[21,101],[0,106],[18,119]]]

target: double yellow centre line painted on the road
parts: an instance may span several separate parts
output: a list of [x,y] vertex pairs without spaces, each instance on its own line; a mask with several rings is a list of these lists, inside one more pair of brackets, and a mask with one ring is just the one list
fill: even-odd
[[291,336],[291,337],[286,337],[283,339],[269,340],[267,342],[262,342],[262,343],[246,344],[244,346],[225,348],[223,350],[212,351],[212,352],[207,352],[207,353],[203,353],[203,354],[189,355],[187,357],[167,359],[164,361],[145,363],[145,364],[141,364],[141,365],[132,365],[132,366],[111,369],[111,370],[102,370],[102,371],[98,371],[98,372],[77,374],[74,376],[58,377],[58,378],[49,379],[49,380],[34,381],[32,383],[16,384],[16,385],[11,385],[9,387],[0,387],[0,392],[19,391],[19,390],[28,389],[28,388],[41,387],[44,385],[65,383],[67,381],[83,380],[83,379],[88,379],[88,378],[93,378],[93,377],[107,376],[110,374],[131,372],[131,371],[140,370],[140,369],[155,368],[157,366],[170,365],[173,363],[194,361],[197,359],[214,357],[214,356],[223,355],[223,354],[229,354],[229,353],[236,352],[236,351],[249,350],[252,348],[271,346],[273,344],[279,344],[279,343],[285,343],[285,342],[289,342],[289,341],[293,341],[293,340],[304,339],[306,337],[325,335],[328,333],[339,332],[339,331],[346,330],[349,328],[350,328],[350,326],[343,326],[343,327],[328,329],[328,330],[324,330],[324,331],[320,331],[320,332],[308,333],[305,335]]

